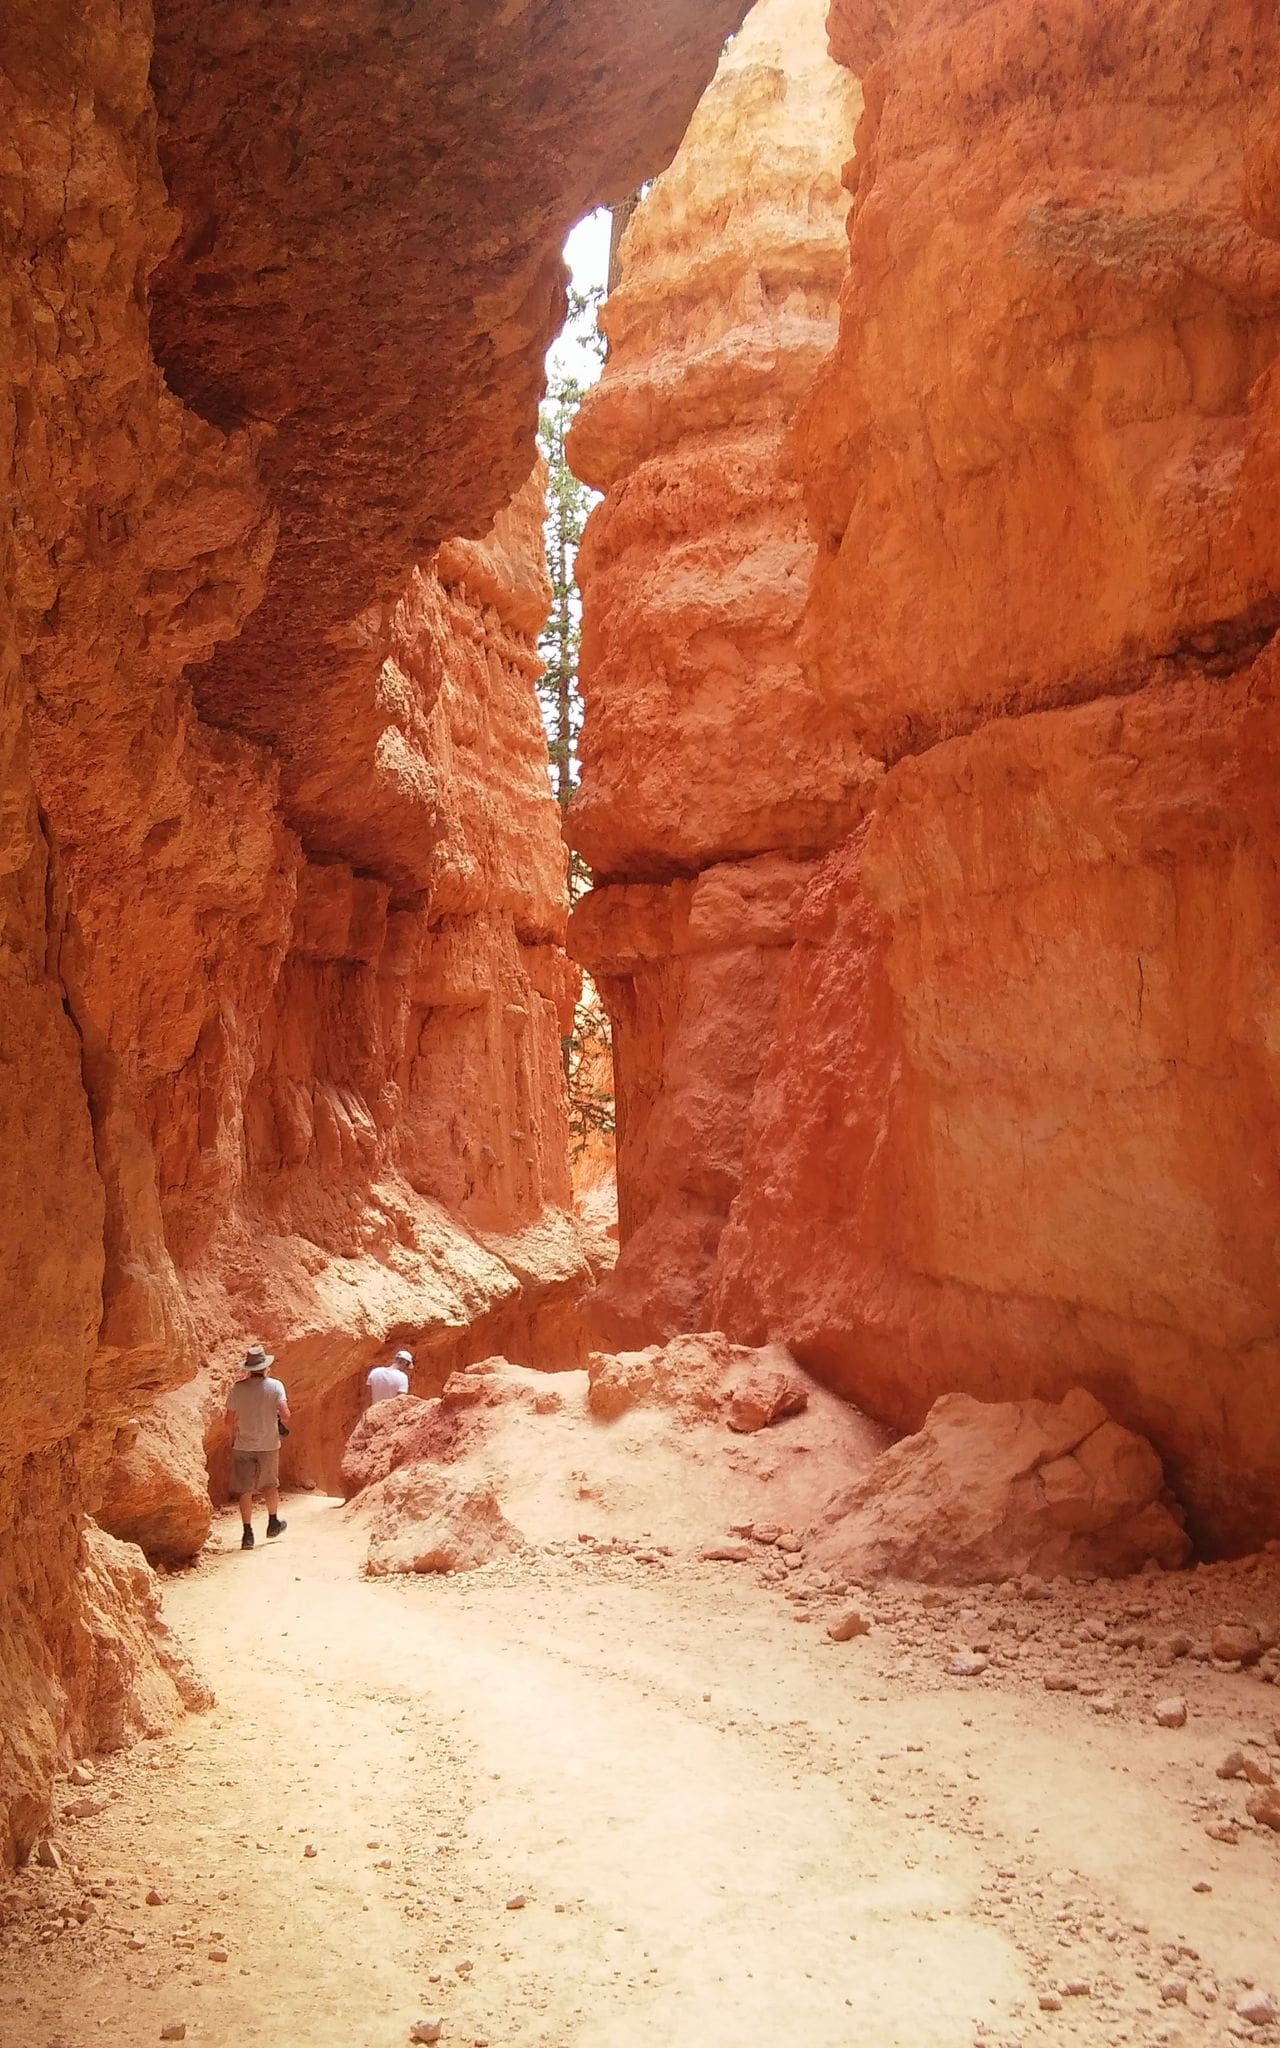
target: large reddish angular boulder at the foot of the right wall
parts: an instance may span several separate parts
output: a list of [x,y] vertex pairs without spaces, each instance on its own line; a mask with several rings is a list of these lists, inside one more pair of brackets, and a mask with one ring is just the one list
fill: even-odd
[[1190,1550],[1159,1456],[1083,1389],[1059,1403],[944,1395],[821,1522],[815,1554],[854,1577],[1124,1577]]

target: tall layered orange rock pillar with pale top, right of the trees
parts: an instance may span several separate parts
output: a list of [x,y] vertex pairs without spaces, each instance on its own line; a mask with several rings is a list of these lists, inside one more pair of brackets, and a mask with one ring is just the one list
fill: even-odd
[[614,1024],[604,1343],[700,1327],[805,879],[858,817],[858,735],[805,678],[813,543],[786,436],[836,340],[858,109],[821,0],[758,0],[635,211],[569,457],[584,535],[573,948]]

